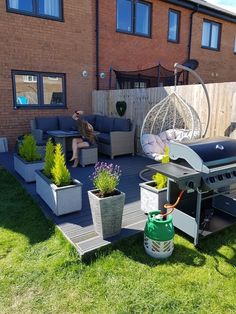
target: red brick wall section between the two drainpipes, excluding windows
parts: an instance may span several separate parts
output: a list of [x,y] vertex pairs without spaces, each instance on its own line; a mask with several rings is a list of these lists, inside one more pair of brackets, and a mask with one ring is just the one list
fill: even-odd
[[[152,36],[145,38],[116,32],[116,0],[100,1],[100,72],[107,74],[106,79],[100,80],[101,88],[108,88],[110,67],[132,71],[160,62],[172,70],[175,62],[187,58],[191,11],[159,0],[149,2],[152,3]],[[170,8],[181,11],[179,44],[167,41]]]

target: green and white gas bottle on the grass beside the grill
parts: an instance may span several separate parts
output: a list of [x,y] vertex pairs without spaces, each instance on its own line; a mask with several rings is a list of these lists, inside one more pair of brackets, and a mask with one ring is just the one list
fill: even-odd
[[174,226],[172,216],[165,218],[159,210],[148,213],[144,229],[144,248],[154,258],[167,258],[174,250]]

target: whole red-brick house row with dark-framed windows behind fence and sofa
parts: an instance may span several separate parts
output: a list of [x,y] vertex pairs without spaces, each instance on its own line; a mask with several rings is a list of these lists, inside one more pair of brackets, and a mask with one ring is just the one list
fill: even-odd
[[13,148],[34,116],[91,112],[111,67],[193,58],[205,82],[235,81],[235,22],[202,0],[1,1],[0,137]]

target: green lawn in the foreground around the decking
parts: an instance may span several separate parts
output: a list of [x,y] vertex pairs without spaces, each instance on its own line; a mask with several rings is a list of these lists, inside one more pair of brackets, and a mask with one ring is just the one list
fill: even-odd
[[167,261],[142,238],[82,264],[19,183],[0,168],[0,313],[236,313],[236,228],[175,236]]

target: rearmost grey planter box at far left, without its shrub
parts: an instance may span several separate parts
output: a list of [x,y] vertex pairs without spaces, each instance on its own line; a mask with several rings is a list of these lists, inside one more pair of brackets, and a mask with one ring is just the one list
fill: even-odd
[[14,154],[14,169],[26,181],[35,181],[35,170],[42,170],[44,161],[28,162],[21,158],[19,155]]

